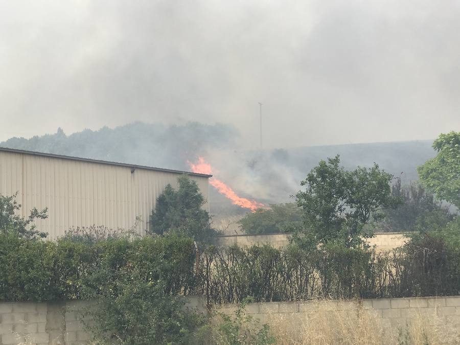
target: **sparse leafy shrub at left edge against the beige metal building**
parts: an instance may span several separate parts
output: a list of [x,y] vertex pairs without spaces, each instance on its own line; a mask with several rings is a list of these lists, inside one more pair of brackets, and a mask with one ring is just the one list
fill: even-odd
[[33,208],[29,217],[21,217],[17,215],[21,205],[17,203],[16,197],[17,193],[12,196],[0,195],[0,233],[14,233],[25,238],[47,237],[48,234],[38,231],[33,222],[48,218],[48,209],[38,211]]

